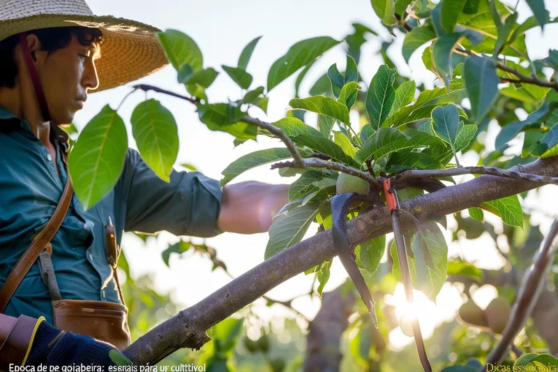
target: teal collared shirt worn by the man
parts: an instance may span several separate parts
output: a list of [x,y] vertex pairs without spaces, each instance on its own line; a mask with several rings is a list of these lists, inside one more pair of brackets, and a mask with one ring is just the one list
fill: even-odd
[[[31,132],[27,121],[0,107],[0,285],[47,223],[66,184],[61,160],[68,137],[52,127],[56,173],[50,152]],[[105,225],[112,221],[116,239],[122,233],[167,230],[175,235],[218,235],[216,221],[222,193],[218,181],[199,172],[177,172],[166,183],[128,149],[114,189],[84,211],[73,195],[60,230],[52,239],[52,264],[62,299],[120,302],[105,253]],[[8,306],[7,315],[45,316],[54,324],[50,294],[33,265]]]

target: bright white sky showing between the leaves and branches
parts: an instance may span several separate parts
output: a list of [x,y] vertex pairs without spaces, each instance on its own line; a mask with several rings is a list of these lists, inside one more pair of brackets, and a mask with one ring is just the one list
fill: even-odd
[[[515,0],[505,2],[515,5]],[[558,2],[545,0],[545,3],[551,15],[556,17],[558,15]],[[248,72],[254,77],[252,88],[266,85],[267,72],[273,61],[285,54],[288,48],[299,40],[313,36],[332,36],[340,40],[352,32],[352,22],[361,22],[381,32],[384,38],[390,37],[380,26],[369,0],[345,0],[342,3],[333,0],[91,0],[89,6],[98,15],[126,17],[152,24],[163,30],[179,29],[192,37],[199,45],[204,54],[204,67],[213,67],[220,71],[222,71],[222,68],[220,68],[222,64],[236,66],[243,47],[256,36],[264,36],[259,41],[248,65]],[[525,0],[520,0],[519,10],[520,20],[530,15]],[[534,59],[547,57],[549,48],[558,49],[558,38],[555,37],[557,32],[558,27],[556,25],[547,26],[543,35],[538,28],[530,31],[527,38],[527,47],[531,57]],[[402,37],[399,37],[389,50],[389,55],[400,67],[400,72],[404,75],[412,75],[418,84],[425,82],[428,87],[432,87],[434,75],[423,67],[421,52],[416,52],[411,59],[411,70],[402,59],[401,44]],[[380,41],[376,39],[363,47],[359,72],[366,82],[370,81],[378,66],[382,64],[382,59],[377,53],[379,45]],[[312,67],[301,86],[301,96],[308,94],[308,89],[315,78],[322,75],[326,68],[333,63],[338,63],[340,70],[344,68],[345,53],[341,46],[335,47]],[[186,93],[186,89],[176,82],[176,72],[172,67],[167,67],[146,77],[142,82],[178,93]],[[116,108],[128,91],[130,91],[129,87],[119,87],[91,95],[86,108],[77,114],[75,124],[82,128],[107,103]],[[285,117],[285,108],[293,94],[294,76],[271,91],[271,94],[269,94],[269,117],[262,117],[262,119],[275,121]],[[165,107],[173,112],[176,118],[181,141],[177,164],[191,163],[209,177],[220,179],[222,177],[221,171],[232,160],[257,149],[277,145],[277,142],[263,139],[257,144],[246,143],[233,149],[233,137],[226,133],[211,132],[206,129],[204,124],[199,122],[193,105],[160,94],[150,93],[148,96],[161,101]],[[241,98],[241,91],[225,73],[222,73],[208,89],[208,96],[211,102],[226,102],[227,98]],[[135,93],[121,107],[119,114],[128,125],[134,107],[144,98],[144,94]],[[312,118],[312,115],[307,114],[307,118]],[[131,135],[131,131],[129,133]],[[489,147],[493,147],[496,134],[497,132],[489,133],[487,136]],[[134,146],[131,136],[130,143]],[[470,156],[469,158],[463,158],[462,163],[473,164],[477,160]],[[235,182],[247,179],[257,179],[269,183],[290,183],[294,180],[279,177],[276,171],[271,171],[265,166],[243,174]],[[538,199],[533,198],[527,200],[525,204],[537,208],[543,207],[549,214],[552,214],[556,210],[557,202],[549,192],[550,187],[552,186],[545,186],[542,195],[548,195],[553,203],[541,203]],[[532,222],[538,223],[539,218],[534,219],[535,221]],[[550,223],[544,221],[544,224],[545,228],[548,228]],[[311,227],[309,232],[313,234],[315,230]],[[446,237],[451,239],[450,234]],[[154,274],[156,288],[165,292],[171,291],[173,298],[187,307],[210,295],[211,292],[227,283],[229,278],[220,269],[211,273],[212,265],[209,259],[200,258],[198,255],[187,255],[186,260],[177,260],[174,257],[170,260],[172,269],[168,269],[160,258],[160,252],[167,247],[169,242],[176,240],[176,237],[164,232],[158,237],[157,241],[150,239],[148,244],[144,246],[142,241],[136,237],[125,237],[123,248],[130,261],[133,275],[136,276],[145,272]],[[218,257],[227,264],[229,271],[235,276],[243,274],[262,262],[266,242],[266,234],[234,235],[225,233],[219,237],[206,240],[208,245],[218,250]],[[455,254],[457,249],[457,244],[451,244],[450,253]],[[497,268],[502,266],[502,259],[492,248],[489,239],[462,241],[459,249],[463,249],[466,252],[465,256],[470,260],[478,260],[482,256],[483,259],[479,261],[479,265],[483,267]],[[340,263],[334,262],[331,278],[325,290],[333,290],[345,281],[345,278],[346,274]],[[310,276],[304,276],[303,274],[296,276],[296,278],[272,290],[269,296],[275,299],[289,299],[299,293],[308,292],[311,281]],[[478,301],[481,306],[486,306],[490,298],[495,296],[490,289],[484,292],[485,295],[482,295],[482,292],[478,291]],[[457,292],[448,285],[444,287],[440,296],[442,297],[439,298],[444,298],[444,301],[440,301],[438,306],[428,303],[427,300],[421,301],[421,304],[424,303],[421,308],[424,309],[423,313],[426,315],[423,318],[421,317],[421,320],[427,337],[431,334],[437,321],[453,318],[455,308],[458,308],[461,302]],[[402,308],[404,303],[402,288],[398,288],[391,301]],[[294,306],[307,316],[313,317],[319,309],[319,302],[312,302],[308,298],[300,299],[294,302]],[[284,312],[279,305],[273,306],[271,310],[264,306],[261,307],[259,309],[260,313],[267,317]],[[392,341],[398,344],[410,341],[410,338],[407,339],[398,332],[392,332]]]

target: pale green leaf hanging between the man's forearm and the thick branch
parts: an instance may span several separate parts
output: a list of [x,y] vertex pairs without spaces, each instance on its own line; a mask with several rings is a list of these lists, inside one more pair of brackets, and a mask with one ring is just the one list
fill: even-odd
[[265,259],[298,243],[318,212],[319,203],[308,203],[278,216],[269,228]]

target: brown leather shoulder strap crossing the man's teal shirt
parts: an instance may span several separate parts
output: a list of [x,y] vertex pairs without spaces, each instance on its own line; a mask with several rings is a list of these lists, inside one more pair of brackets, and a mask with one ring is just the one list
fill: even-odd
[[8,275],[6,283],[4,283],[2,289],[0,290],[0,313],[6,310],[6,306],[13,294],[17,290],[17,287],[23,281],[23,278],[27,275],[33,264],[36,262],[40,253],[45,249],[47,244],[59,230],[60,225],[66,214],[68,213],[68,208],[70,207],[70,202],[72,201],[73,195],[72,181],[70,179],[70,174],[68,174],[68,181],[66,181],[66,187],[62,193],[62,198],[58,202],[54,214],[50,217],[50,220],[45,225],[43,230],[40,230],[38,235],[33,237],[33,241],[27,250],[23,253],[22,257],[15,264],[15,267]]

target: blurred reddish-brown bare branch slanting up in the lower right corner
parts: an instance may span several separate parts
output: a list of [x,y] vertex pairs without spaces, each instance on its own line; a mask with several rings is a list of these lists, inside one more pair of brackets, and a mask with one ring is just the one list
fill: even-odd
[[543,284],[548,274],[548,269],[552,266],[554,256],[558,248],[558,220],[555,220],[550,227],[550,232],[543,242],[540,251],[534,258],[534,263],[531,265],[525,276],[523,283],[518,291],[518,298],[515,300],[511,308],[510,320],[506,324],[506,328],[502,333],[502,339],[486,359],[486,364],[498,364],[502,361],[504,354],[513,343],[513,339],[520,332],[525,325],[527,318],[531,315],[538,295],[541,294]]

